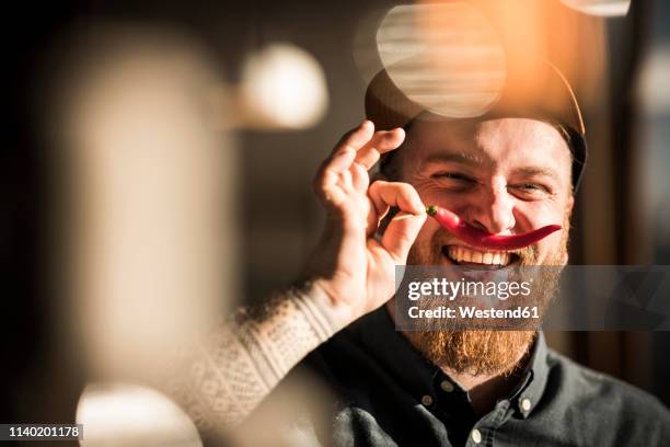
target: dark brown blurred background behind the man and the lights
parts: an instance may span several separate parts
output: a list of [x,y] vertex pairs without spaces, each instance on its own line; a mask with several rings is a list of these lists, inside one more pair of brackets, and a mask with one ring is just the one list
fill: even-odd
[[[353,56],[354,36],[367,14],[392,4],[62,1],[4,7],[2,422],[72,422],[83,386],[77,354],[60,356],[67,347],[50,336],[49,309],[58,302],[45,279],[55,168],[33,107],[53,81],[42,61],[54,42],[99,20],[169,25],[207,47],[231,82],[244,56],[264,43],[290,42],[319,60],[330,93],[320,124],[301,131],[242,131],[239,139],[239,263],[245,299],[258,301],[296,277],[319,233],[322,217],[311,177],[333,142],[363,117],[366,82]],[[670,5],[660,0],[636,1],[626,18],[607,22],[610,50],[602,88],[609,106],[585,111],[591,159],[575,210],[573,264],[670,264],[670,99],[666,108],[649,107],[655,92],[636,89],[650,55],[670,48],[668,23]],[[670,79],[670,65],[654,69]],[[593,135],[604,138],[594,141]],[[649,191],[666,199],[649,204]],[[552,333],[548,340],[576,360],[670,404],[670,333]]]

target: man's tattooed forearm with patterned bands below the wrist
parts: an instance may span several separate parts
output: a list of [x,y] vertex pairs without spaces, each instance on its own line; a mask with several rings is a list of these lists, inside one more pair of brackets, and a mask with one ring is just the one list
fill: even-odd
[[319,287],[240,312],[180,355],[171,394],[203,432],[241,422],[305,355],[340,329]]

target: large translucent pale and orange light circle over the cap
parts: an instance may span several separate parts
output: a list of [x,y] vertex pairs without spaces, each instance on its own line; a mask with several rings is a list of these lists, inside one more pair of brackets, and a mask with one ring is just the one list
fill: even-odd
[[396,87],[442,116],[482,115],[505,85],[503,44],[465,2],[395,7],[378,30],[377,45]]

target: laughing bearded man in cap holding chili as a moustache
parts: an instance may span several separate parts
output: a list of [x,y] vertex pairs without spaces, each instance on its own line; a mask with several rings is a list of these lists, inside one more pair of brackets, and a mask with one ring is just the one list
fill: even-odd
[[[330,423],[305,432],[314,443],[670,445],[670,414],[656,399],[552,352],[541,333],[394,330],[396,265],[567,263],[584,126],[569,85],[550,68],[547,91],[562,91],[555,106],[542,98],[508,107],[504,94],[473,119],[398,105],[406,99],[385,72],[372,81],[371,121],[316,174],[327,219],[305,280],[218,330],[196,355],[178,396],[204,432],[243,421],[309,354],[296,371],[315,371],[334,396]],[[494,234],[563,229],[494,257],[426,219],[427,204]]]

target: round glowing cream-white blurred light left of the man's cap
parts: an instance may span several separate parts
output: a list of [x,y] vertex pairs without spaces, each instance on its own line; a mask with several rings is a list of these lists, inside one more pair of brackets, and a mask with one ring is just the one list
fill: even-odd
[[323,117],[328,104],[323,69],[290,44],[273,44],[251,55],[240,94],[249,127],[308,128]]

